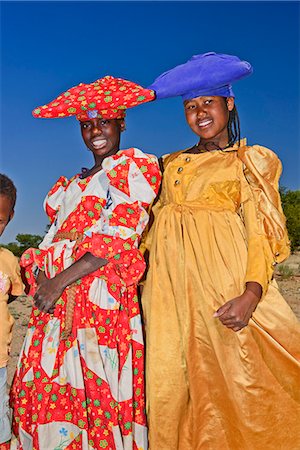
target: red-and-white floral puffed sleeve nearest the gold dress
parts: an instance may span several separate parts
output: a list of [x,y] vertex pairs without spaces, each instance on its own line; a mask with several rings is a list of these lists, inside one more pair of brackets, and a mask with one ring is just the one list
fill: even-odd
[[106,158],[102,165],[108,178],[106,205],[97,226],[79,245],[78,256],[90,252],[126,269],[122,277],[139,279],[144,271],[137,249],[148,223],[148,207],[160,186],[157,158],[136,148]]

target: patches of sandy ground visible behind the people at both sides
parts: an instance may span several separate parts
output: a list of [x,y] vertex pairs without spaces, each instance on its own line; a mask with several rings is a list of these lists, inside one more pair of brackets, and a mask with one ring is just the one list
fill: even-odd
[[[288,266],[293,271],[293,276],[290,276],[288,279],[283,279],[279,272],[280,266],[278,266],[275,277],[283,297],[300,320],[300,252],[292,255],[284,265]],[[9,383],[11,383],[27,330],[31,312],[31,301],[27,297],[19,297],[18,300],[10,305],[10,310],[15,318],[15,325],[13,330],[11,359],[8,366]]]

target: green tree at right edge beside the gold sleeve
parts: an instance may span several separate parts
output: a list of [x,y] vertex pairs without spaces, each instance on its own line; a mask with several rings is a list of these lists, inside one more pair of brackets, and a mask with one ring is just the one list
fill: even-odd
[[300,247],[300,190],[290,191],[281,187],[280,195],[291,241],[291,250],[295,251]]

